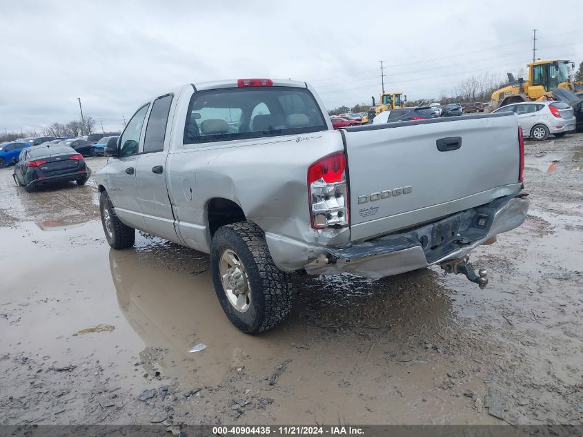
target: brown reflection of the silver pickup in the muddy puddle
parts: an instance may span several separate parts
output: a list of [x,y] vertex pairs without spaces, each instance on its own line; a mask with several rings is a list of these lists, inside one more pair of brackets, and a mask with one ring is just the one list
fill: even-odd
[[[184,251],[180,255],[197,254],[175,247]],[[173,271],[157,260],[164,253],[141,252],[112,249],[109,260],[119,307],[146,344],[143,355],[164,349],[158,361],[162,369],[179,377],[195,372],[205,383],[218,383],[233,368],[267,370],[279,364],[279,349],[289,341],[289,332],[241,333],[224,315],[208,271]],[[207,345],[204,351],[188,353],[201,342]]]

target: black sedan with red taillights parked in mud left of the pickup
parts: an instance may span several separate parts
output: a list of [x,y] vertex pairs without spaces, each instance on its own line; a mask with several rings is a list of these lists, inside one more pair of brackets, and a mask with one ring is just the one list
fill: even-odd
[[55,182],[83,185],[91,171],[83,157],[69,146],[47,144],[23,148],[14,166],[14,182],[26,191]]

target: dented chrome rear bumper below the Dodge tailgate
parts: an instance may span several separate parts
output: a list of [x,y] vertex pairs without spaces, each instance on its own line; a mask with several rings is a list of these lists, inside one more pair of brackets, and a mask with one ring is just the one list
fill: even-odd
[[348,272],[378,279],[462,258],[497,234],[520,226],[528,213],[526,194],[501,197],[402,233],[328,248],[305,266],[312,275]]

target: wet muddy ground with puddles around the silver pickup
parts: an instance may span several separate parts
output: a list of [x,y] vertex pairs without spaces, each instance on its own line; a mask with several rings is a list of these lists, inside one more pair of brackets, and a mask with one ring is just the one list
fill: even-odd
[[295,311],[255,337],[207,255],[114,251],[95,185],[29,194],[1,169],[0,425],[583,424],[583,134],[526,154],[528,220],[472,256],[486,290],[295,275]]

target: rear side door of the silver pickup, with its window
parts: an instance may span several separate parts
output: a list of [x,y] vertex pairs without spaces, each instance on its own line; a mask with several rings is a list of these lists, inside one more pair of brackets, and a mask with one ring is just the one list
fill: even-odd
[[166,188],[166,157],[170,147],[170,128],[174,108],[172,94],[155,99],[150,110],[144,150],[136,164],[138,202],[144,212],[148,231],[166,240],[180,243],[174,227],[172,205]]

